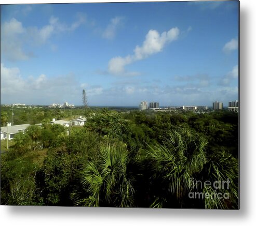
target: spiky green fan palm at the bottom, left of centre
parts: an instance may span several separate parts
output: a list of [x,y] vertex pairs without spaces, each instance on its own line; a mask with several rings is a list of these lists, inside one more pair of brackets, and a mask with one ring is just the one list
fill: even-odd
[[124,145],[102,145],[97,163],[88,162],[81,173],[81,184],[87,197],[72,194],[75,205],[119,206],[133,204],[133,178],[127,171],[128,151]]

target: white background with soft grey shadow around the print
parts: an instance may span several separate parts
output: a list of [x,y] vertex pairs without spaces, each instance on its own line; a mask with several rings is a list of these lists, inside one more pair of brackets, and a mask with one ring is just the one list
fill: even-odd
[[[62,0],[59,2],[109,1]],[[240,210],[0,206],[1,225],[255,225],[256,73],[253,53],[256,50],[256,10],[254,2],[240,1]],[[58,3],[58,1],[5,0],[1,2],[3,3]]]

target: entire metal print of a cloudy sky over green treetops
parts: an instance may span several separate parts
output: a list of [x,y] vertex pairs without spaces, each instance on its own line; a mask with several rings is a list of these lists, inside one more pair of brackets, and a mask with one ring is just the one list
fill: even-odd
[[1,205],[239,208],[239,2],[1,5]]

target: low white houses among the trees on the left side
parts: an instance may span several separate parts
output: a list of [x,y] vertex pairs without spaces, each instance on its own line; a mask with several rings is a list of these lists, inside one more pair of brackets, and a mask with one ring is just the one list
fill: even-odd
[[[70,121],[66,120],[56,120],[52,118],[50,124],[59,124],[64,127],[69,128],[70,126],[84,126],[86,123],[86,117],[82,117],[81,115],[78,118],[72,119]],[[22,132],[24,133],[26,128],[31,126],[30,124],[22,124],[22,125],[11,125],[11,123],[7,123],[6,126],[1,127],[1,140],[12,140],[15,137],[15,134]],[[42,123],[36,124],[36,126],[42,126]],[[68,131],[67,131],[68,133]]]

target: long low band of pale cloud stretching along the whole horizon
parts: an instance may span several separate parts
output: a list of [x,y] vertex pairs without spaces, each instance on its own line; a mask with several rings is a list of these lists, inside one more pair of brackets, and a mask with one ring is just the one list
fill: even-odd
[[[237,79],[238,67],[227,73],[230,78]],[[137,106],[141,100],[158,101],[160,105],[207,105],[214,100],[224,102],[238,97],[237,85],[216,87],[205,86],[206,75],[181,77],[185,84],[170,82],[156,84],[140,82],[138,78],[114,83],[111,87],[79,83],[74,74],[49,78],[45,74],[26,78],[17,67],[8,68],[1,64],[1,102],[26,104],[51,104],[68,101],[82,104],[82,89],[85,88],[88,102],[91,105]],[[179,78],[179,79],[181,79]],[[179,80],[180,81],[180,80]],[[130,83],[129,83],[130,82]],[[169,85],[168,85],[169,84]],[[132,98],[130,98],[132,95]],[[213,99],[213,100],[212,100]]]

